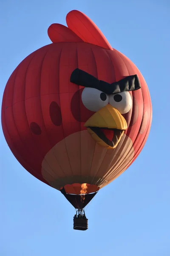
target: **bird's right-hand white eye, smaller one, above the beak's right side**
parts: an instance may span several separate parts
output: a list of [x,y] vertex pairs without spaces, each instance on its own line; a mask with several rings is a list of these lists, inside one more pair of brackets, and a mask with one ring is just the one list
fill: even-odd
[[132,107],[132,99],[129,92],[109,95],[109,103],[121,114],[129,112]]

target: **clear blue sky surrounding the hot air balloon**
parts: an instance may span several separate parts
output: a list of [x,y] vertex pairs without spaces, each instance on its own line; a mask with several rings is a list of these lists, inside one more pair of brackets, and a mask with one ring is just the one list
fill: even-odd
[[153,122],[144,149],[101,189],[73,230],[74,208],[14,158],[0,127],[0,256],[170,256],[170,1],[1,0],[0,102],[17,65],[50,44],[51,23],[84,12],[144,76]]

